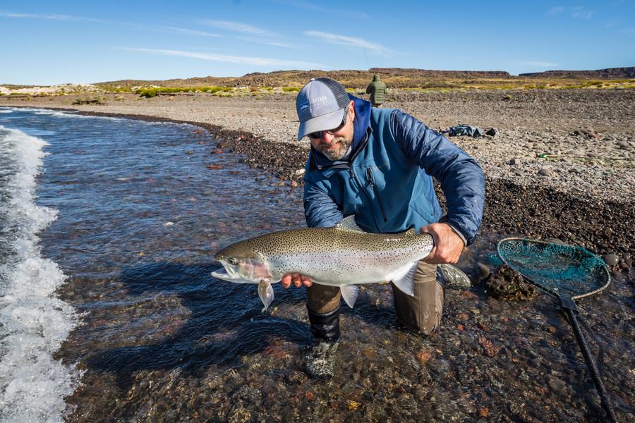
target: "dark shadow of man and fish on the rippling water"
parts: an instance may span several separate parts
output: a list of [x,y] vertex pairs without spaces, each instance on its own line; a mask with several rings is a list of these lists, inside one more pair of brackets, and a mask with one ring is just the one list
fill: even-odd
[[[102,350],[89,355],[85,364],[96,372],[116,374],[124,388],[140,370],[178,368],[185,374],[199,374],[210,365],[236,367],[241,357],[262,353],[274,339],[306,340],[304,322],[262,312],[258,297],[249,299],[248,291],[255,286],[215,281],[209,275],[216,268],[162,262],[123,270],[119,280],[130,297],[157,291],[177,295],[191,314],[158,343]],[[280,301],[304,303],[303,290],[284,290],[277,296]]]

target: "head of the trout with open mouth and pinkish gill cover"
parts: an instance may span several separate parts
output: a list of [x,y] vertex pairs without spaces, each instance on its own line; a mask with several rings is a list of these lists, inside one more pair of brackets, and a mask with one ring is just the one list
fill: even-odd
[[212,271],[214,278],[235,283],[260,283],[269,280],[271,274],[262,255],[244,243],[236,243],[214,255],[222,269]]

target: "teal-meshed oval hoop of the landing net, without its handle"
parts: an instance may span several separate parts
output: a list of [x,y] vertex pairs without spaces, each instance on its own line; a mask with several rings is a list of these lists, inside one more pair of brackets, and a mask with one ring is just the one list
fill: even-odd
[[603,259],[582,247],[507,238],[497,252],[504,264],[556,295],[583,298],[610,282]]

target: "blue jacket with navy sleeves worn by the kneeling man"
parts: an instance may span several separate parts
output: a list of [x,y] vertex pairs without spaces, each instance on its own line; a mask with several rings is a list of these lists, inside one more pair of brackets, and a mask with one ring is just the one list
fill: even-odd
[[483,219],[483,170],[447,138],[397,109],[355,106],[348,160],[329,161],[311,148],[304,176],[309,227],[327,227],[355,215],[374,233],[397,233],[439,221],[436,178],[447,198],[447,223],[469,245]]

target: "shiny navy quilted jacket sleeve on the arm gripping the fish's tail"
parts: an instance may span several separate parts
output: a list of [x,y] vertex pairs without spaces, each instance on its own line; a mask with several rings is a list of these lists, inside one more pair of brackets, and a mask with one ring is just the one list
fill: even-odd
[[446,137],[402,111],[393,112],[391,130],[406,157],[439,181],[447,200],[446,223],[471,244],[483,220],[483,169]]

